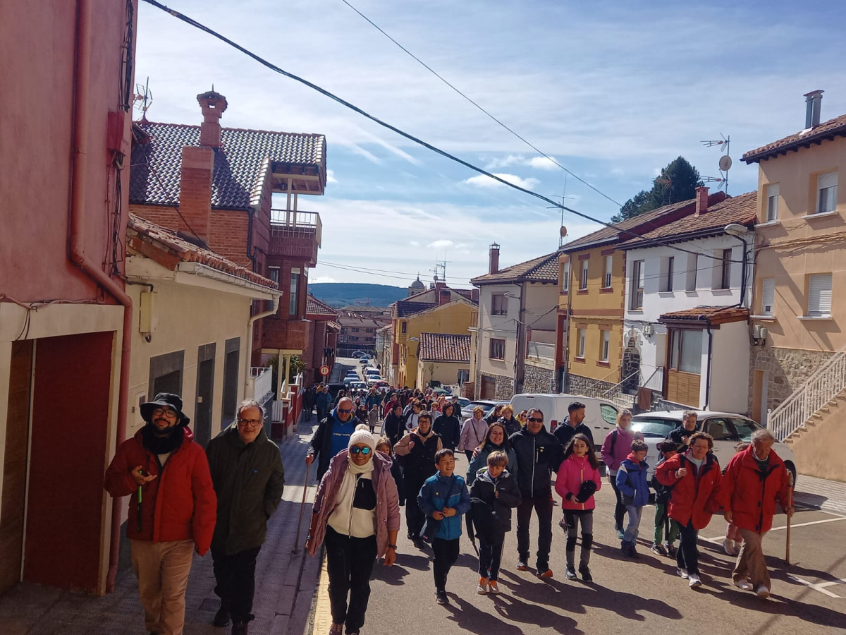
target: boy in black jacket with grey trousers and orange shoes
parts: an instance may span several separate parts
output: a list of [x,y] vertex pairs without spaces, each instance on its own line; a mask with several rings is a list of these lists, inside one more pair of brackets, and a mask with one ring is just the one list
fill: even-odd
[[487,468],[476,472],[470,489],[473,524],[479,538],[478,594],[499,593],[499,565],[505,534],[511,531],[511,508],[522,500],[517,479],[508,473],[507,466],[505,452],[491,452],[487,456]]

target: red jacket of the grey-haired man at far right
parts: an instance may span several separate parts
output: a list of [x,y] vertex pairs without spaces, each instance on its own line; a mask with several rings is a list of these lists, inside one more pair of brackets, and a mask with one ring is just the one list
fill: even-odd
[[732,522],[741,529],[764,533],[772,529],[776,500],[788,506],[788,470],[784,461],[770,450],[766,472],[761,472],[750,445],[728,461],[722,478],[722,505],[732,511]]

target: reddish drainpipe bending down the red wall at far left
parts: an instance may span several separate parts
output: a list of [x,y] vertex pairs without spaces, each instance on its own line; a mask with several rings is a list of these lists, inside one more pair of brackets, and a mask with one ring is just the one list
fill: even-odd
[[[70,238],[68,257],[86,275],[124,306],[124,328],[121,335],[120,378],[118,386],[118,421],[115,446],[126,439],[126,417],[129,394],[129,353],[132,349],[132,299],[104,273],[96,262],[85,256],[85,176],[88,167],[88,97],[91,79],[91,0],[78,0],[76,13],[76,58],[74,59],[73,146],[70,174]],[[120,176],[118,175],[118,178]],[[120,551],[120,498],[112,502],[112,531],[109,544],[109,566],[106,591],[114,591]]]

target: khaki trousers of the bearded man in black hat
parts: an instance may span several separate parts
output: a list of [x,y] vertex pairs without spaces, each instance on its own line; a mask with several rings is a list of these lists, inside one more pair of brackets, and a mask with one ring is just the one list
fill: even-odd
[[162,635],[182,635],[185,588],[194,558],[194,541],[129,542],[132,568],[138,576],[138,595],[144,607],[144,627]]

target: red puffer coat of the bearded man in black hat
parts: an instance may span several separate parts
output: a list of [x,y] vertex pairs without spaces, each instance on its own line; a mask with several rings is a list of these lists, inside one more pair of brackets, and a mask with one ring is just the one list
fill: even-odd
[[[144,473],[156,474],[141,492],[141,529],[138,530],[138,486],[129,471],[142,466]],[[193,539],[200,555],[211,545],[217,517],[217,496],[211,484],[206,452],[194,443],[194,434],[185,428],[182,444],[163,468],[156,456],[141,443],[140,430],[124,441],[106,470],[103,485],[114,498],[129,496],[129,522],[126,535],[135,540],[168,542]]]

